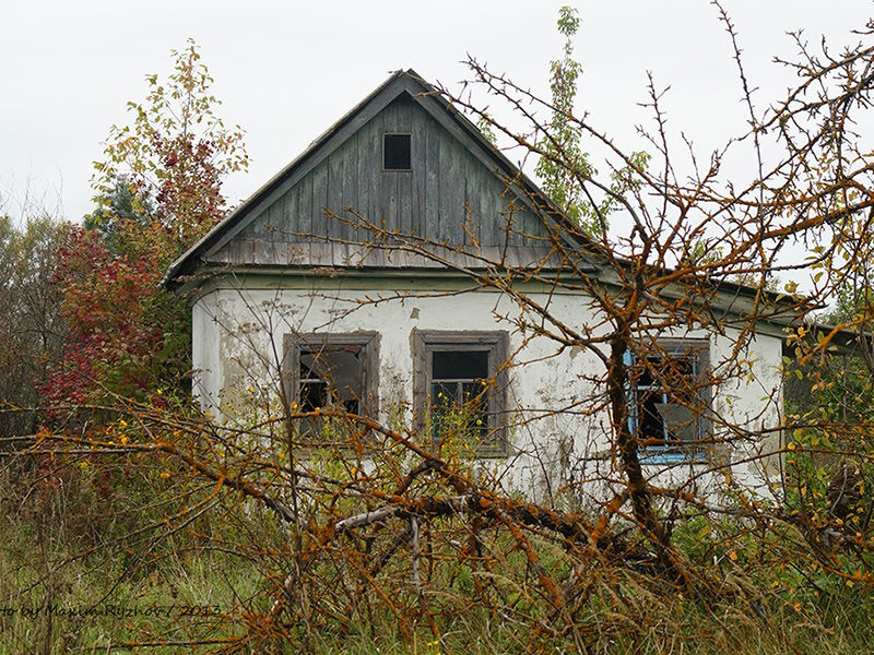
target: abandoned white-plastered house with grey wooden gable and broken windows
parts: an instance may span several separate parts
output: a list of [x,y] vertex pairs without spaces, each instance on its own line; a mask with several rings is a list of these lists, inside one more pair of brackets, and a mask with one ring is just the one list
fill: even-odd
[[[595,479],[612,465],[603,364],[538,333],[531,310],[603,323],[584,289],[555,283],[610,284],[563,221],[434,87],[397,72],[173,264],[165,282],[191,299],[194,393],[220,420],[264,390],[433,443],[454,413],[473,454],[507,485]],[[736,289],[729,297],[743,301]],[[720,332],[659,334],[663,352],[651,357],[694,379],[736,362],[732,329]],[[763,321],[742,354],[749,374],[694,400],[751,433],[779,426],[783,337]],[[719,450],[689,444],[717,428],[666,379],[633,381],[629,420],[649,475],[688,477]],[[735,480],[760,486],[766,467],[746,463],[759,446],[716,454],[736,462]]]

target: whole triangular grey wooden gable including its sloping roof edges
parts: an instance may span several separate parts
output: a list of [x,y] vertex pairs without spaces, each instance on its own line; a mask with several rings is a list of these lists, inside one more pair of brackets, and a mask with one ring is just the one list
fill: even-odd
[[[383,168],[386,134],[410,135],[409,170]],[[204,264],[558,267],[554,235],[564,221],[433,86],[399,71],[177,260],[165,282]]]

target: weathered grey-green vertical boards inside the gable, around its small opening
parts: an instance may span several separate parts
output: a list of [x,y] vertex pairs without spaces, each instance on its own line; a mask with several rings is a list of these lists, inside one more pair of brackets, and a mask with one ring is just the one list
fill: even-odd
[[[411,134],[411,170],[382,169],[386,133]],[[464,142],[466,140],[466,142]],[[479,144],[451,133],[410,95],[401,94],[265,207],[212,261],[264,264],[330,264],[350,243],[367,242],[367,230],[350,223],[359,213],[390,231],[450,246],[495,251],[511,246],[517,261],[533,263],[548,243],[545,228],[522,199],[475,154]],[[331,217],[343,216],[347,222]],[[328,248],[330,242],[346,245]],[[321,245],[321,249],[290,245]],[[326,250],[326,252],[321,252]],[[519,251],[528,251],[521,253]],[[320,253],[320,257],[310,254]],[[535,252],[536,251],[536,252]],[[299,253],[298,258],[293,253]],[[370,265],[410,265],[409,258],[370,255]],[[327,261],[326,261],[327,260]],[[403,263],[400,263],[403,262]],[[517,264],[518,265],[518,264]]]

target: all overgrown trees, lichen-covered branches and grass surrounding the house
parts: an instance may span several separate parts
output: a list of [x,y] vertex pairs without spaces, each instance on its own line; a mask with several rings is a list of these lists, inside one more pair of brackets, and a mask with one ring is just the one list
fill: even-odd
[[[473,443],[497,376],[465,392],[466,406],[447,406],[436,442],[434,426],[417,433],[402,406],[383,407],[381,422],[336,397],[304,406],[283,386],[275,352],[241,373],[252,383],[228,401],[233,420],[192,405],[189,314],[157,283],[222,218],[221,181],[247,159],[240,132],[215,118],[211,79],[189,43],[174,53],[174,75],[150,78],[146,102],[131,104],[132,126],[111,129],[84,228],[0,222],[9,281],[0,296],[0,651],[867,650],[874,180],[851,127],[870,110],[874,46],[834,56],[799,40],[799,60],[787,62],[799,86],[764,115],[742,73],[752,127],[734,143],[754,143],[763,162],[770,135],[780,155],[752,181],[728,184],[718,154],[706,170],[674,168],[654,85],[652,155],[624,154],[575,115],[579,19],[565,8],[558,25],[568,40],[553,64],[552,100],[469,62],[471,82],[529,130],[444,93],[540,157],[546,190],[572,219],[550,243],[568,271],[562,289],[587,294],[597,324],[564,323],[518,290],[518,279],[555,289],[545,269],[487,261],[484,274],[442,245],[386,233],[376,217],[329,209],[326,221],[353,222],[365,235],[357,246],[452,267],[510,299],[521,333],[597,357],[602,368],[586,373],[591,396],[553,414],[605,418],[604,466],[562,472],[548,496],[507,485]],[[874,24],[861,33],[873,35]],[[584,139],[611,148],[606,179]],[[619,215],[627,234],[609,229]],[[768,291],[775,272],[802,267],[778,257],[793,238],[822,245],[805,264],[816,273],[807,297]],[[611,284],[587,273],[580,252],[611,271]],[[737,276],[751,285],[747,303],[727,318],[713,308]],[[817,302],[836,299],[836,326],[813,324]],[[265,303],[227,329],[255,348],[252,335],[283,311]],[[751,344],[766,321],[792,330],[784,365],[796,382],[786,413],[741,420],[699,402],[701,388],[754,382]],[[733,335],[707,377],[672,379],[687,386],[685,408],[713,425],[695,445],[707,453],[697,477],[724,478],[716,495],[694,478],[668,486],[645,474],[648,436],[629,396],[645,376],[668,374],[660,331],[692,324]],[[314,450],[302,430],[314,425],[330,446]],[[725,453],[780,475],[765,489],[745,486]]]

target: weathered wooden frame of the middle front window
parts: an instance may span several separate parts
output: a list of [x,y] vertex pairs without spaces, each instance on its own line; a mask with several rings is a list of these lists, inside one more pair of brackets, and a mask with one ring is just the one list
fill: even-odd
[[[504,457],[507,455],[507,361],[509,335],[506,331],[413,331],[413,413],[414,427],[423,440],[433,448],[438,445],[439,436],[433,433],[434,413],[432,389],[434,379],[435,352],[486,352],[488,354],[488,378],[475,380],[483,386],[486,401],[486,438],[473,449],[477,457]],[[466,378],[445,379],[459,384],[474,382]],[[440,381],[439,379],[437,380]],[[485,384],[482,384],[485,382]],[[427,437],[426,437],[427,434]]]

